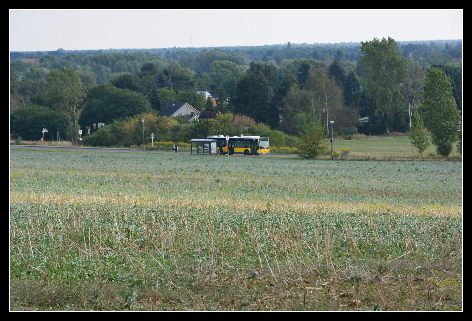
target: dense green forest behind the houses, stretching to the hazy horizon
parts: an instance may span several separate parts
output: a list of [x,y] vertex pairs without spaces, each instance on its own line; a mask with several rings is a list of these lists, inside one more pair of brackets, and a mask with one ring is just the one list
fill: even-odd
[[[346,135],[406,132],[411,118],[405,109],[406,93],[395,86],[408,81],[407,69],[413,65],[445,70],[456,105],[462,110],[462,40],[388,38],[388,45],[382,46],[387,45],[400,64],[396,67],[398,79],[388,85],[393,86],[388,90],[394,94],[391,104],[395,106],[388,113],[375,102],[375,92],[369,90],[373,78],[363,58],[367,48],[362,46],[370,42],[10,52],[11,132],[33,138],[38,126],[54,131],[70,127],[55,112],[47,81],[51,72],[64,70],[74,71],[84,87],[83,111],[74,121],[74,127],[81,128],[148,112],[163,115],[166,101],[185,101],[201,112],[213,113],[205,115],[211,119],[217,119],[218,113],[245,115],[265,124],[265,130],[292,136],[300,134],[304,123],[320,121],[326,125],[328,117],[335,120],[335,130]],[[320,93],[327,84],[331,86],[329,99]],[[197,89],[218,97],[217,106],[198,95]],[[320,104],[321,98],[326,100],[325,107]],[[422,115],[421,102],[417,107]],[[365,116],[371,117],[369,123],[358,122],[358,117]],[[42,124],[36,125],[38,119]],[[185,130],[188,126],[180,122],[162,139],[186,140],[213,131],[210,127]]]

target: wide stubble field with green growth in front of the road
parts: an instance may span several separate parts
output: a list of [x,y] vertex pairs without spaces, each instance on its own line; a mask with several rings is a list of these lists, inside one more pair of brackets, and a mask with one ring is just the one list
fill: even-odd
[[462,310],[462,163],[10,151],[10,310]]

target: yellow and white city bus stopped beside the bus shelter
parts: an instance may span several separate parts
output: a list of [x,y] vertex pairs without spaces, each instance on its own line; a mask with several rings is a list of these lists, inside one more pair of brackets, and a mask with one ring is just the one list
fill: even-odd
[[269,138],[260,136],[230,136],[226,140],[226,136],[208,136],[207,140],[217,141],[217,150],[223,155],[229,153],[244,155],[267,155],[270,154]]

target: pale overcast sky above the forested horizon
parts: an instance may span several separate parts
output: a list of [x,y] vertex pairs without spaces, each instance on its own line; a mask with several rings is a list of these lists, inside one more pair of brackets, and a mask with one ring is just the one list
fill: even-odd
[[10,10],[10,51],[462,39],[462,10]]

